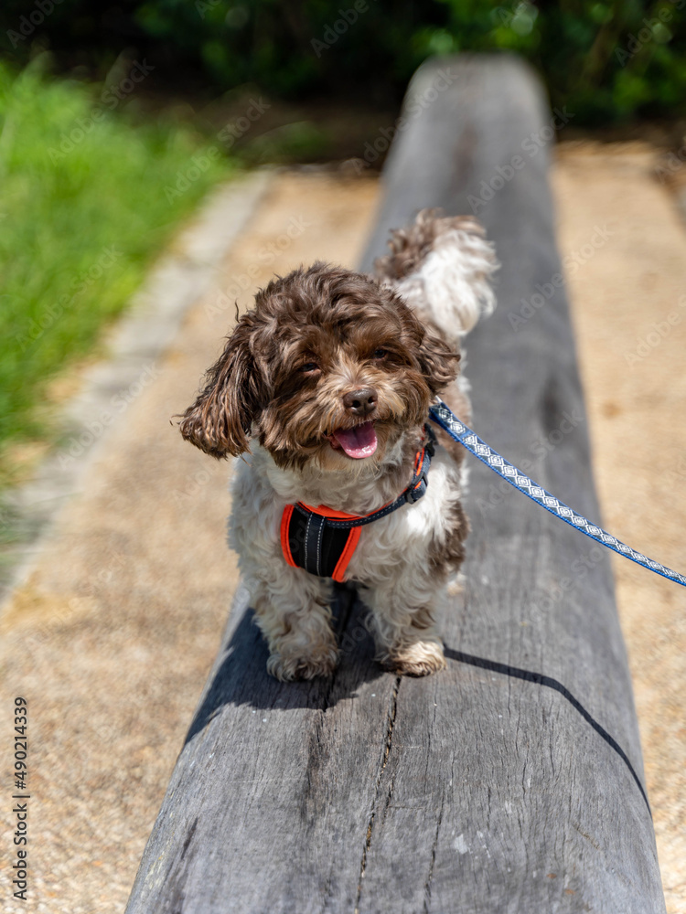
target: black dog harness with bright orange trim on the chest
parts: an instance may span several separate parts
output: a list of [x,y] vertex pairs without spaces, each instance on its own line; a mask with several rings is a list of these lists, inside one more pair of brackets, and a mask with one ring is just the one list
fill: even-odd
[[430,426],[424,426],[424,433],[426,441],[414,458],[412,482],[394,502],[378,511],[369,515],[348,515],[332,511],[326,505],[316,508],[303,502],[286,505],[281,517],[281,547],[288,564],[320,578],[345,580],[361,527],[397,511],[402,505],[413,505],[426,492],[436,439]]

